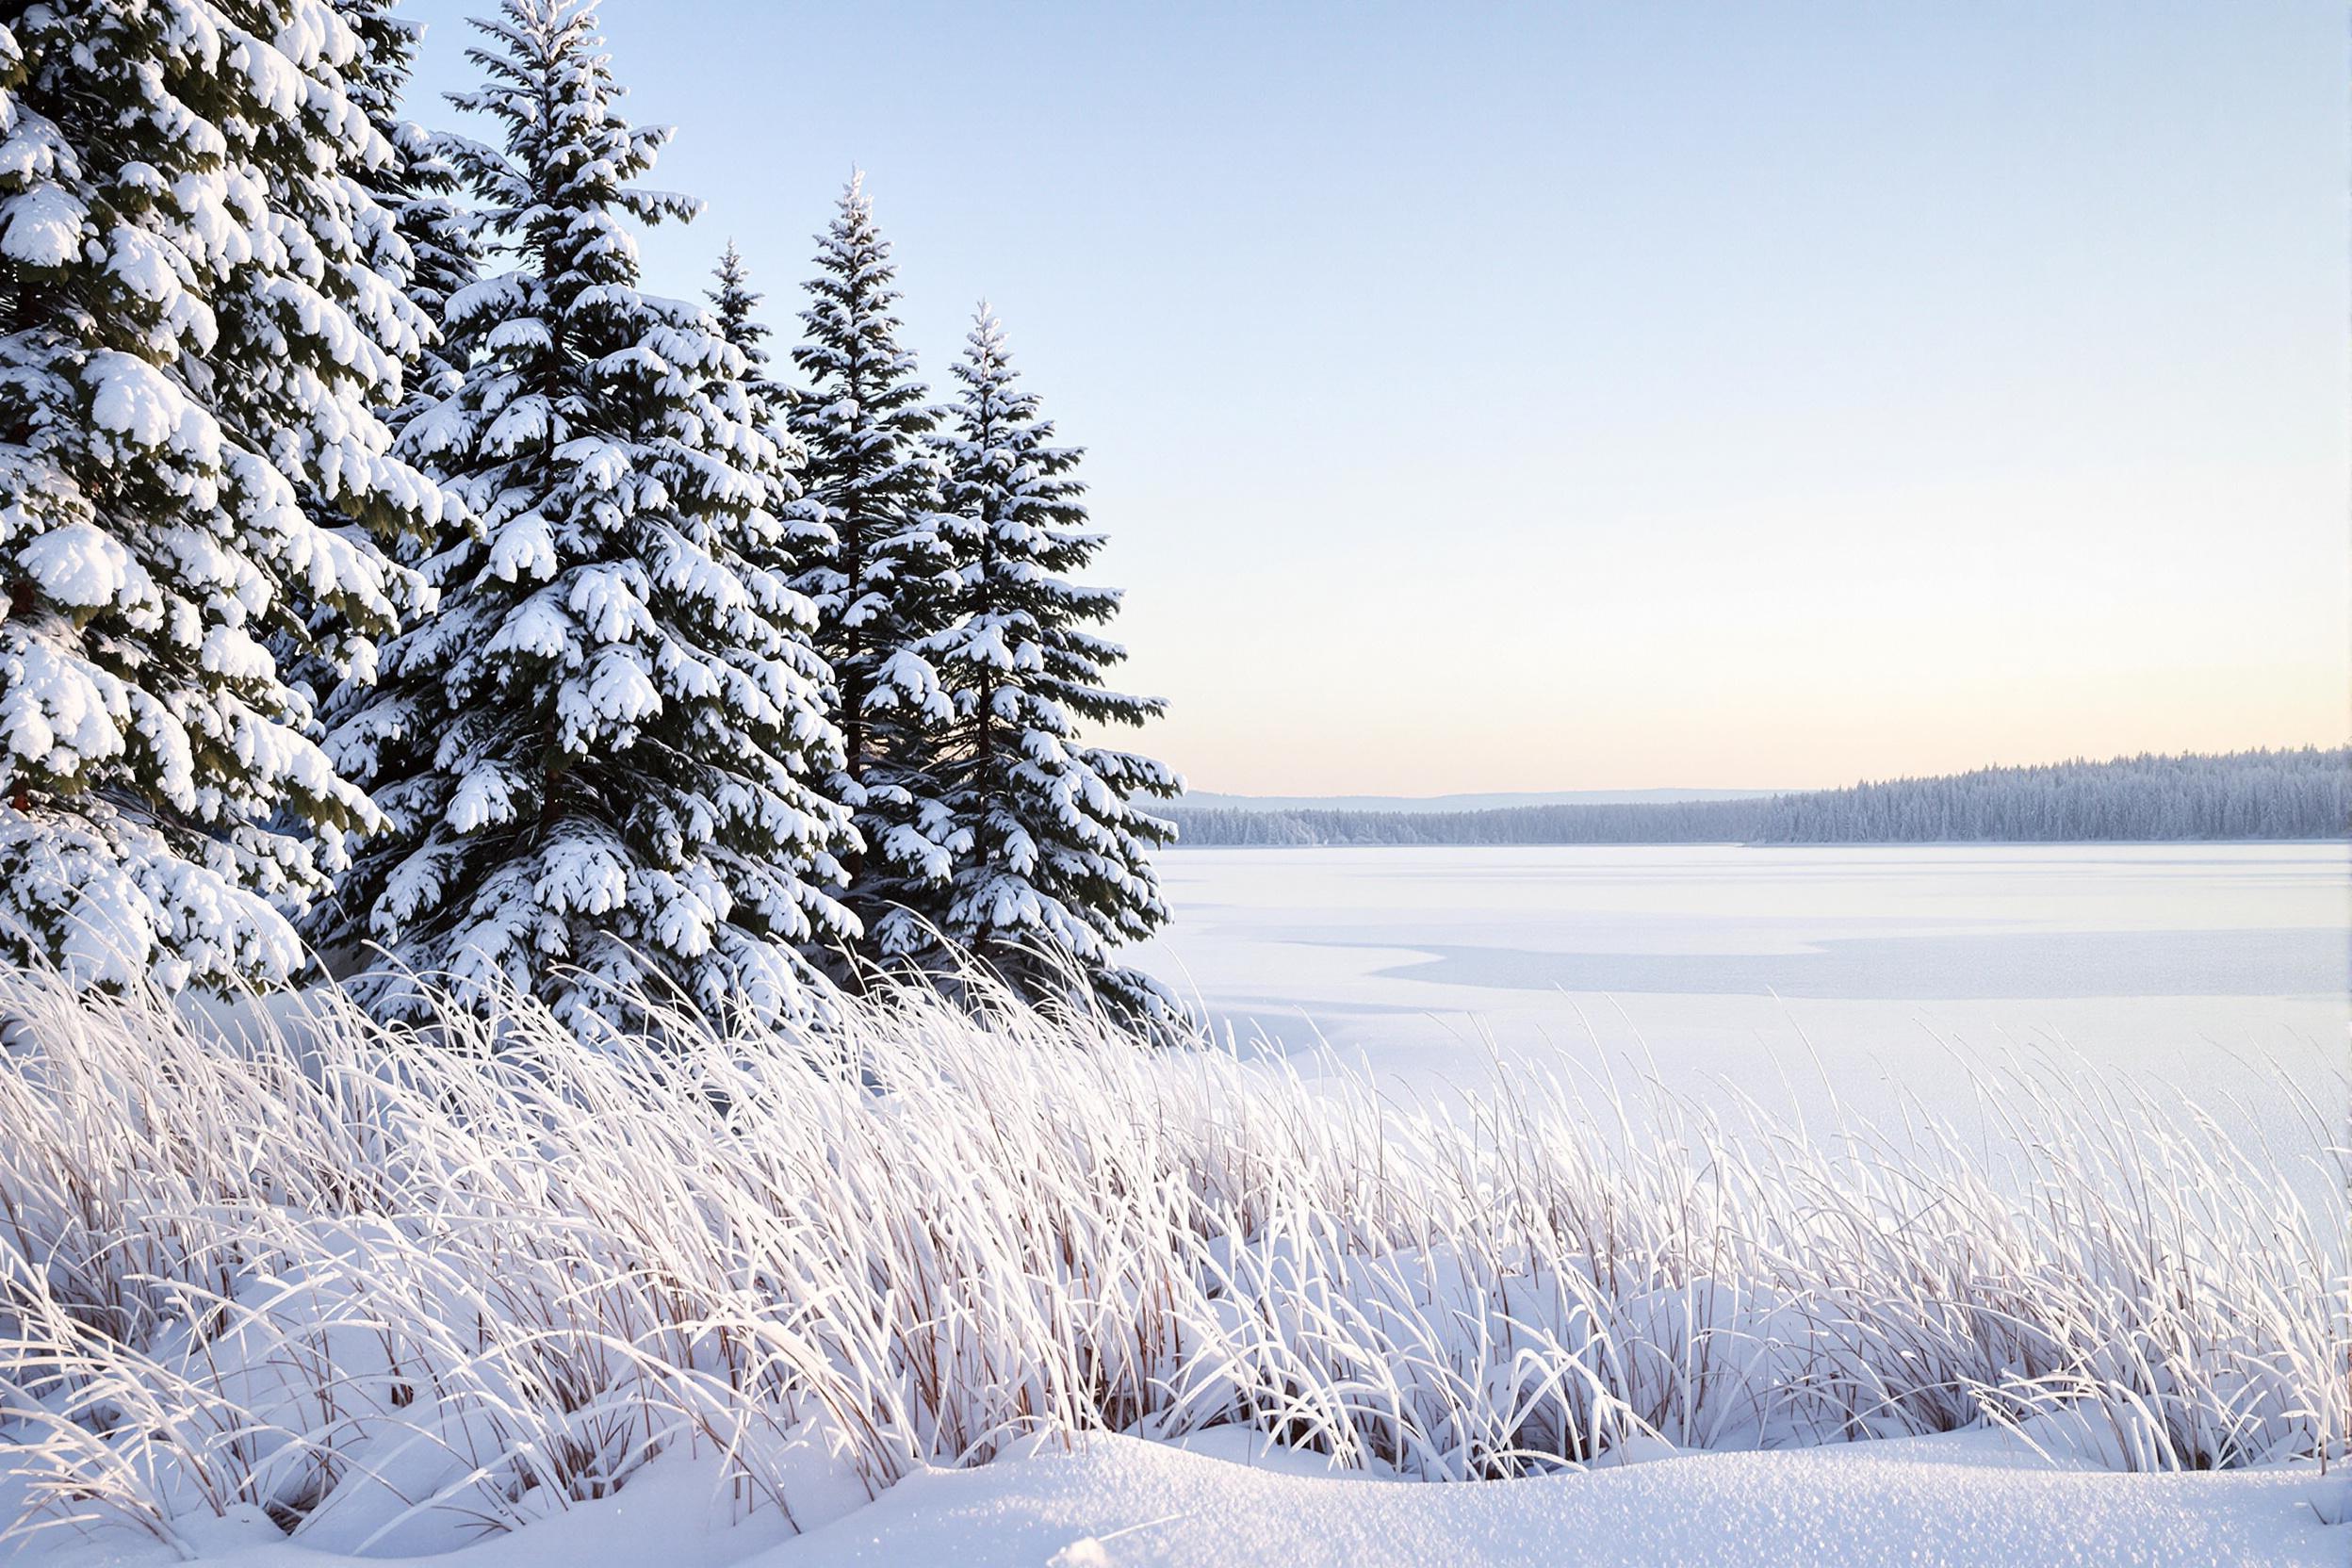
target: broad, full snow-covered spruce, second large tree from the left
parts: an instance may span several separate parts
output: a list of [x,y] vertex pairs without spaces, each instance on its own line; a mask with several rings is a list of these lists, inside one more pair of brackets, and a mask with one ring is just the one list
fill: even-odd
[[[619,118],[593,12],[506,0],[475,26],[489,80],[456,101],[503,148],[454,155],[513,270],[449,299],[463,386],[407,433],[475,527],[332,738],[393,818],[336,933],[461,1001],[536,990],[583,1032],[663,983],[795,1013],[797,947],[849,931],[823,891],[849,839],[811,788],[840,733],[795,599],[746,557],[776,534],[776,454],[710,317],[637,289],[623,221],[694,202],[635,183],[668,132]],[[362,994],[421,1006],[400,976]]]

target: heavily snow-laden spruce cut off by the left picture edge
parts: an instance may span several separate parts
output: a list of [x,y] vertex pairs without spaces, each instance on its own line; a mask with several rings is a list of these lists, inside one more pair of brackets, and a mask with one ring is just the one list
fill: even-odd
[[369,266],[360,40],[325,0],[0,26],[0,947],[82,983],[285,980],[372,825],[268,644],[367,672],[437,491],[372,411],[421,317]]

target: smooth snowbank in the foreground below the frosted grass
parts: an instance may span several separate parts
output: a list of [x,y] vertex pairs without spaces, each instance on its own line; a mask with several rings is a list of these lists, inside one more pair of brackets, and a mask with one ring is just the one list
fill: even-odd
[[[1955,1432],[1839,1448],[1658,1458],[1534,1481],[1409,1486],[1329,1474],[1249,1436],[1030,1439],[924,1469],[786,1535],[736,1521],[715,1467],[661,1460],[630,1490],[485,1540],[449,1568],[2343,1568],[2352,1481],[2298,1472],[2117,1476]],[[207,1535],[221,1568],[336,1568],[261,1521]],[[169,1563],[75,1542],[52,1568]],[[381,1559],[376,1559],[381,1561]]]

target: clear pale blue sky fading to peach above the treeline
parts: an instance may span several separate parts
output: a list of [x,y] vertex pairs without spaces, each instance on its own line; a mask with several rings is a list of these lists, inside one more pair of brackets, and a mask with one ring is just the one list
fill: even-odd
[[[423,87],[463,16],[423,0]],[[689,294],[868,172],[1089,447],[1195,788],[2336,743],[2336,0],[607,0]]]

